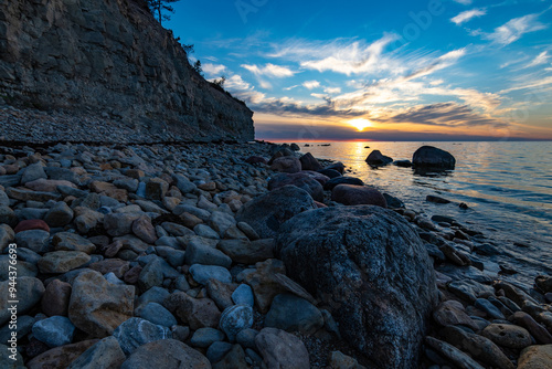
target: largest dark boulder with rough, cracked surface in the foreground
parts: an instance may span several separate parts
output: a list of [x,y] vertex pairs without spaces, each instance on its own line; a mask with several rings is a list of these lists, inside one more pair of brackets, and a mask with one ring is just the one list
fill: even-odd
[[283,224],[276,250],[347,341],[379,367],[417,368],[437,289],[427,251],[402,217],[372,205],[305,212]]

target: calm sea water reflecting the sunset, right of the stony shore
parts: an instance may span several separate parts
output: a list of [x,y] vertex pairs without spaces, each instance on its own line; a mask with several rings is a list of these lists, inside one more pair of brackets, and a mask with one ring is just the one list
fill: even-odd
[[[301,152],[342,161],[361,178],[414,210],[428,217],[449,215],[480,230],[507,252],[507,261],[524,268],[526,276],[552,273],[552,143],[331,143]],[[449,151],[456,168],[446,175],[420,176],[411,168],[393,165],[373,169],[364,159],[380,150],[393,159],[410,159],[414,151],[432,145]],[[370,146],[370,148],[365,148]],[[457,204],[425,201],[437,194]],[[514,242],[529,244],[529,249]]]

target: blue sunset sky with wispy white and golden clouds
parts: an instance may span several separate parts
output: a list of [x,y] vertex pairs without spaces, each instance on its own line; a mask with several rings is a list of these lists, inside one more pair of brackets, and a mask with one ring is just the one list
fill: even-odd
[[181,0],[267,140],[552,139],[550,1]]

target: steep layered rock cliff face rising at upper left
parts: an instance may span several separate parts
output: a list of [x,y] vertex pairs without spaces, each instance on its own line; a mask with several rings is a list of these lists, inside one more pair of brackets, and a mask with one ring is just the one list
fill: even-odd
[[2,1],[0,96],[94,115],[141,141],[254,136],[253,112],[195,73],[135,0]]

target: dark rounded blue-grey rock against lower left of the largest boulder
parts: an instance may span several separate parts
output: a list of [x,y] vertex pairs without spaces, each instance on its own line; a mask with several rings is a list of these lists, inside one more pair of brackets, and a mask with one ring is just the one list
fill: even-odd
[[323,326],[320,310],[308,301],[290,294],[274,297],[265,327],[312,335]]

